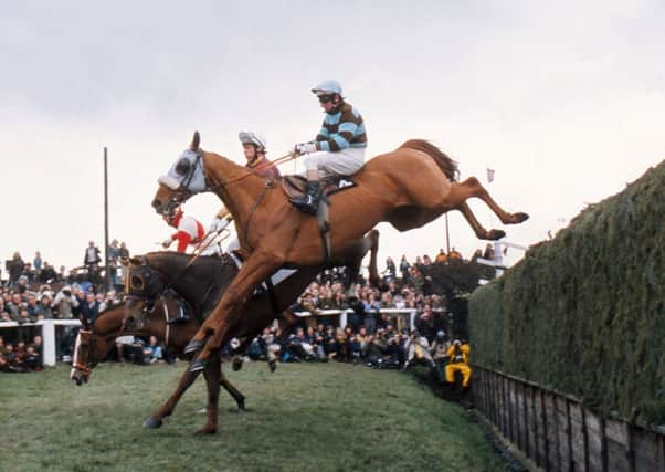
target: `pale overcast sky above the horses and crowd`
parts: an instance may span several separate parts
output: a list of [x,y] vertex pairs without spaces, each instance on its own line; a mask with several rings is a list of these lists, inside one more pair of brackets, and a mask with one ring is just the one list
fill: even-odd
[[[337,78],[362,114],[368,158],[425,138],[477,176],[530,245],[587,204],[665,159],[662,1],[31,1],[0,18],[0,256],[34,251],[67,268],[104,241],[103,148],[110,238],[133,253],[171,230],[150,207],[157,178],[201,132],[243,161],[238,133],[270,156],[312,139],[312,86]],[[487,183],[486,169],[495,170]],[[284,165],[283,174],[300,171]],[[217,197],[184,211],[208,225]],[[485,242],[450,213],[451,245]],[[399,233],[380,261],[434,255],[444,219]],[[515,260],[521,255],[511,250]],[[382,265],[382,263],[381,263]]]

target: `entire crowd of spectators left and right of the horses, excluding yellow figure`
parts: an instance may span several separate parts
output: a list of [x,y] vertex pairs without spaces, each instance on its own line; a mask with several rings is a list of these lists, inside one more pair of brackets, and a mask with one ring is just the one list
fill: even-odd
[[[492,255],[487,254],[489,249],[484,254],[476,252],[474,259]],[[119,266],[119,259],[129,253],[117,241],[109,250],[110,277],[117,284],[118,272],[113,268]],[[83,262],[82,270],[70,272],[63,266],[55,271],[42,261],[40,252],[32,263],[24,262],[19,253],[7,262],[9,277],[0,284],[0,323],[13,321],[19,328],[6,331],[4,338],[0,338],[0,370],[29,371],[41,366],[41,337],[35,327],[21,325],[39,319],[71,319],[80,314],[92,321],[106,307],[122,302],[122,294],[98,290],[99,250],[92,241]],[[303,317],[302,323],[289,328],[266,328],[243,354],[255,360],[334,360],[374,368],[407,368],[421,361],[443,377],[454,340],[462,336],[452,332],[446,297],[435,293],[429,269],[464,263],[454,248],[447,253],[441,250],[433,260],[419,256],[413,263],[402,255],[399,265],[388,258],[381,272],[381,290],[371,287],[362,276],[349,287],[344,268],[324,271],[292,306],[293,312],[315,316]],[[59,289],[53,290],[56,285]],[[327,310],[345,311],[346,326],[338,327],[339,314],[328,316]],[[64,328],[61,333],[57,347],[64,360],[71,356],[74,337],[75,329]],[[461,344],[465,340],[461,339]],[[119,338],[116,357],[149,364],[163,359],[165,352],[156,338],[138,343]]]

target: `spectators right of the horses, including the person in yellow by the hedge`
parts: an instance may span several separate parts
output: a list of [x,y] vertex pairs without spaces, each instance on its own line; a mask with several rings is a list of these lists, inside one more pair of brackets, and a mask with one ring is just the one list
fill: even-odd
[[[487,251],[487,250],[486,250]],[[474,258],[488,254],[474,253]],[[285,363],[341,361],[379,369],[407,369],[415,363],[431,367],[441,382],[451,381],[457,367],[463,382],[471,375],[466,363],[469,346],[463,333],[455,333],[446,297],[435,293],[430,269],[436,264],[466,264],[460,252],[441,250],[411,263],[403,255],[399,266],[388,258],[382,287],[367,281],[349,287],[344,269],[325,271],[292,306],[292,311],[315,316],[285,331],[265,328],[245,355],[253,360],[278,358]],[[326,311],[346,311],[346,326]],[[411,312],[415,312],[413,326]]]

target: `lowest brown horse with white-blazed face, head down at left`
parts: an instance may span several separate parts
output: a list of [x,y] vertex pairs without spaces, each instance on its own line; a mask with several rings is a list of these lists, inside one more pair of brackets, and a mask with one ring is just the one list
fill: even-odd
[[[85,317],[81,317],[83,327],[78,331],[74,356],[72,359],[71,379],[76,385],[88,381],[91,371],[97,363],[104,360],[113,346],[115,338],[120,335],[133,336],[155,336],[163,343],[165,348],[177,355],[182,355],[184,346],[194,335],[200,324],[196,321],[169,326],[166,322],[168,314],[177,310],[176,301],[160,298],[155,302],[149,316],[145,317],[140,326],[123,331],[125,318],[125,304],[114,306],[99,314],[93,322],[88,323]],[[208,421],[198,432],[214,432],[218,422],[218,403],[220,385],[233,397],[238,408],[245,409],[245,397],[242,395],[224,376],[221,364],[210,363],[210,366],[203,371],[208,386]],[[182,384],[182,380],[181,380]],[[179,386],[180,387],[180,386]],[[173,403],[175,407],[175,403]],[[146,427],[157,427],[156,423],[146,420]],[[161,423],[161,421],[160,421]]]

